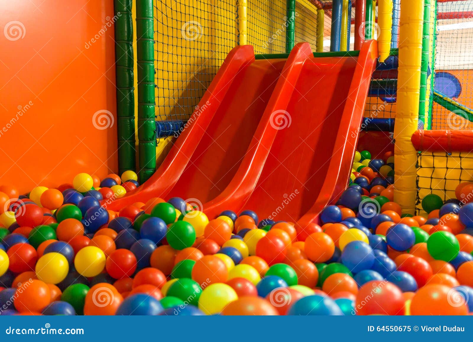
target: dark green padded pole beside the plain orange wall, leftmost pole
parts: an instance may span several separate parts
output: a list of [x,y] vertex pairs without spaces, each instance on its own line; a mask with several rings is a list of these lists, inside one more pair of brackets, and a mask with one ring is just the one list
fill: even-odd
[[132,0],[115,0],[118,174],[136,168]]

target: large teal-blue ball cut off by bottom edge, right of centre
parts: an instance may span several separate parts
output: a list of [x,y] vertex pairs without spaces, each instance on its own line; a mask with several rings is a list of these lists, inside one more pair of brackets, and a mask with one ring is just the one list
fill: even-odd
[[343,312],[330,297],[319,295],[300,298],[289,307],[291,316],[342,316]]

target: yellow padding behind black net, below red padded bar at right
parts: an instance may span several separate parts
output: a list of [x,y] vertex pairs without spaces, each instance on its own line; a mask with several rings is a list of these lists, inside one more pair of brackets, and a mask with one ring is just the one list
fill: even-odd
[[[454,152],[447,156],[445,152],[423,152],[417,175],[420,201],[429,193],[435,193],[442,199],[456,198],[458,184],[473,182],[473,153]],[[425,214],[420,203],[417,209]]]

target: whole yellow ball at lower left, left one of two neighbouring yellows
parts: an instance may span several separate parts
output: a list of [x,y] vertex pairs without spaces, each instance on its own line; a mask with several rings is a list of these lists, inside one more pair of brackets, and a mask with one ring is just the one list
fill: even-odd
[[38,259],[35,272],[39,280],[47,284],[57,284],[66,278],[69,263],[61,253],[47,253]]

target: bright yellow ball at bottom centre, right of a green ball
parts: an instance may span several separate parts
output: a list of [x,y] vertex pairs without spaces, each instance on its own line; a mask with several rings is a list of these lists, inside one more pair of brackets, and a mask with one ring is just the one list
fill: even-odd
[[218,314],[228,303],[238,299],[235,290],[223,283],[210,284],[201,293],[199,309],[206,315]]

